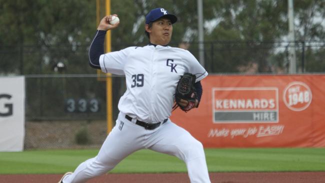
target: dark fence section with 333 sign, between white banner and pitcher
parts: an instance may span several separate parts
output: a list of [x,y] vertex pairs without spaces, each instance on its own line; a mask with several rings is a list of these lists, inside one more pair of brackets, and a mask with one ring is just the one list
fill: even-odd
[[[112,76],[113,120],[124,79]],[[99,146],[107,131],[104,80],[96,74],[26,75],[25,149]]]

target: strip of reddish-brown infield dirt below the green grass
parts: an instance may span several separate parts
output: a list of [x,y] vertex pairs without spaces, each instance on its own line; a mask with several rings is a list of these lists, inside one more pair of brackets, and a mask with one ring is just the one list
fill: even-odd
[[[319,172],[227,172],[209,173],[212,183],[320,183],[325,182],[325,171]],[[0,183],[56,183],[62,174],[6,174]],[[110,173],[95,177],[89,183],[188,183],[186,173]]]

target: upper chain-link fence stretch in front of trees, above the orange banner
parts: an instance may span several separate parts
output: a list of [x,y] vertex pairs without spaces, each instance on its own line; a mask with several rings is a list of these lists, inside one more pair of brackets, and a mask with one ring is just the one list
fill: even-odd
[[[288,48],[295,47],[298,73],[325,71],[324,41],[205,41],[173,42],[196,58],[204,52],[204,67],[210,73],[288,73]],[[130,45],[112,45],[120,50]],[[138,45],[143,46],[143,45]],[[0,45],[2,74],[84,74],[94,73],[87,64],[88,45]]]

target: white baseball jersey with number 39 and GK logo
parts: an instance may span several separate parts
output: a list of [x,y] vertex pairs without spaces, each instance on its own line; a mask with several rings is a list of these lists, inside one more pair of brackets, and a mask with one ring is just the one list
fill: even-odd
[[170,46],[127,47],[100,55],[99,63],[103,72],[125,75],[119,111],[151,123],[170,116],[176,85],[184,72],[195,74],[196,82],[207,75],[189,51]]

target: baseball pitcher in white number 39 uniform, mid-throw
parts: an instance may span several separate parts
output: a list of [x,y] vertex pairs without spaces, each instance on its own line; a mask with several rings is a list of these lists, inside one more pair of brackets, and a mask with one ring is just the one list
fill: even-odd
[[168,46],[177,17],[164,8],[145,16],[149,43],[104,53],[106,31],[118,26],[112,16],[101,19],[89,48],[89,64],[103,72],[125,75],[126,91],[118,102],[116,124],[98,154],[82,162],[59,182],[85,182],[110,171],[139,149],[177,156],[186,163],[190,182],[210,182],[201,142],[173,123],[175,107],[197,107],[202,94],[200,80],[207,72],[187,50]]

